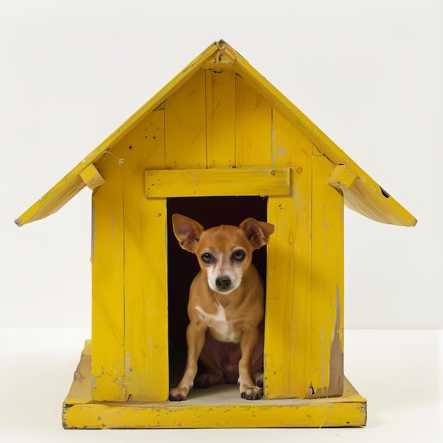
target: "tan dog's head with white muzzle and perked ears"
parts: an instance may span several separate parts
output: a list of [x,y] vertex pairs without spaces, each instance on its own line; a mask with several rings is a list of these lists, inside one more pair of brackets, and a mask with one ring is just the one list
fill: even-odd
[[252,253],[268,243],[275,226],[248,218],[240,226],[205,230],[195,220],[173,214],[173,231],[180,246],[197,255],[209,287],[222,294],[237,289],[251,265]]

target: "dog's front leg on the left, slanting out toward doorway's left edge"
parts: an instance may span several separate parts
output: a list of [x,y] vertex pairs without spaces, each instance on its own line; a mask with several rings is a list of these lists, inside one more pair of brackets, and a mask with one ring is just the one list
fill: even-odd
[[169,391],[169,400],[183,401],[194,384],[197,374],[197,361],[205,345],[207,326],[202,322],[191,322],[186,329],[186,343],[188,344],[188,359],[186,360],[185,373],[175,389]]

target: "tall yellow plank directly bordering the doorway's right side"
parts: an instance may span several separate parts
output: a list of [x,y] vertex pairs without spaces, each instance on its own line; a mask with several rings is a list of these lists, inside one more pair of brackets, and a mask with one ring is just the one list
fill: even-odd
[[269,197],[265,397],[305,398],[311,385],[311,143],[282,115],[272,114],[274,165],[291,164],[292,190]]

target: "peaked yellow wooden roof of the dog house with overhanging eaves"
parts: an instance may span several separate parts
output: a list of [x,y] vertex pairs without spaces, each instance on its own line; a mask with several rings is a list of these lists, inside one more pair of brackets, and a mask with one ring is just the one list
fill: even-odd
[[308,137],[328,159],[335,164],[328,183],[339,188],[345,197],[345,204],[350,209],[374,219],[377,222],[414,226],[417,220],[396,200],[384,191],[357,163],[352,161],[326,134],[309,120],[306,115],[291,103],[280,91],[256,71],[246,59],[241,57],[223,40],[214,42],[166,86],[156,93],[142,108],[137,110],[115,132],[105,139],[96,149],[86,156],[62,180],[50,189],[40,200],[34,203],[18,219],[16,224],[23,226],[54,214],[86,185],[94,188],[103,183],[103,178],[94,163],[106,152],[112,151],[146,115],[173,95],[185,81],[202,69],[214,71],[233,69],[258,91],[272,106],[279,110],[289,122]]

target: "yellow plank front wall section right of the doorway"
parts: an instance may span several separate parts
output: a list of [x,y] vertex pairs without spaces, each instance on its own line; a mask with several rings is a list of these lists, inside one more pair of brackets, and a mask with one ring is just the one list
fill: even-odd
[[343,195],[325,156],[276,110],[273,166],[292,166],[292,193],[270,197],[265,395],[343,393]]

